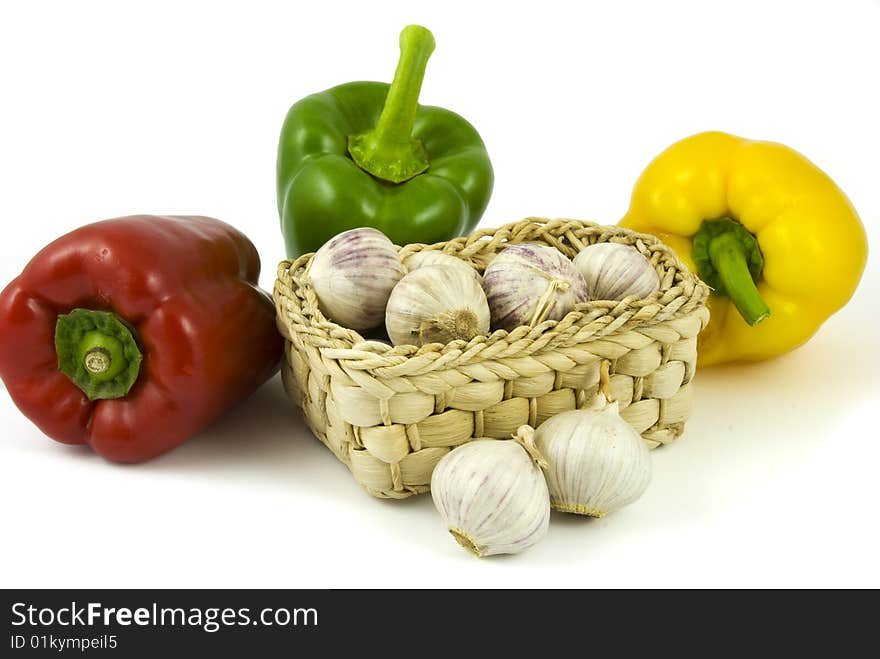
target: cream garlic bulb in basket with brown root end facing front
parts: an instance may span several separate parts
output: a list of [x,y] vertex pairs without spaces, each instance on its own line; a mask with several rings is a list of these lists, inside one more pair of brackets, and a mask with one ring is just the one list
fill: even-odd
[[385,329],[394,345],[470,341],[489,332],[486,294],[462,268],[417,268],[391,291]]

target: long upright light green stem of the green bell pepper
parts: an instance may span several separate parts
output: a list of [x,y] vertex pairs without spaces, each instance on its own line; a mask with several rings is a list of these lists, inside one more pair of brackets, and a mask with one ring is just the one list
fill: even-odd
[[400,59],[376,127],[348,138],[348,151],[364,171],[390,183],[402,183],[428,169],[424,145],[413,138],[419,93],[434,37],[419,25],[400,33]]

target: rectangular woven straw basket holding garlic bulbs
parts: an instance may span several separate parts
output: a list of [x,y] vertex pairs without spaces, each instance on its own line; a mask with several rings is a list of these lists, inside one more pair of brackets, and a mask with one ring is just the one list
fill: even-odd
[[522,242],[551,245],[568,257],[597,242],[633,245],[656,267],[660,290],[642,300],[579,305],[558,322],[470,342],[391,347],[319,311],[306,276],[312,254],[279,265],[285,389],[315,436],[371,494],[427,492],[434,465],[453,447],[477,437],[509,438],[522,424],[536,426],[582,405],[596,392],[603,365],[621,415],[652,448],[682,432],[709,289],[656,238],[529,218],[445,243],[407,245],[400,254],[442,250],[482,272],[506,245]]

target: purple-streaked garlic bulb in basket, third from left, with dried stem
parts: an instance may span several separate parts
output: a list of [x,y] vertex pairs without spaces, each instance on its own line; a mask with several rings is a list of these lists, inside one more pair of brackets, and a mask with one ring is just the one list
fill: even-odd
[[489,262],[483,289],[494,327],[512,330],[559,320],[589,300],[587,284],[571,261],[547,245],[511,245]]

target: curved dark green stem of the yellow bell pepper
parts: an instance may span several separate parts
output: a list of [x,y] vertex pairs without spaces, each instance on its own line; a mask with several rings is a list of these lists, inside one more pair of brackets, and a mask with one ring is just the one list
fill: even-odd
[[749,325],[770,315],[755,282],[761,278],[764,258],[758,241],[730,218],[706,220],[694,236],[694,262],[700,277],[716,295],[726,295]]

